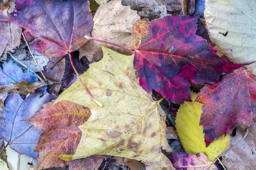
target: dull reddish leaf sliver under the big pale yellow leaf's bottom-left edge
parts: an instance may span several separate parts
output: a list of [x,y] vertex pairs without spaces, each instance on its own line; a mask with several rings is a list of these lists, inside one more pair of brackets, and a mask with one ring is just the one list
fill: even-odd
[[107,159],[106,155],[93,155],[83,159],[69,161],[69,170],[93,170],[98,169],[103,159]]

